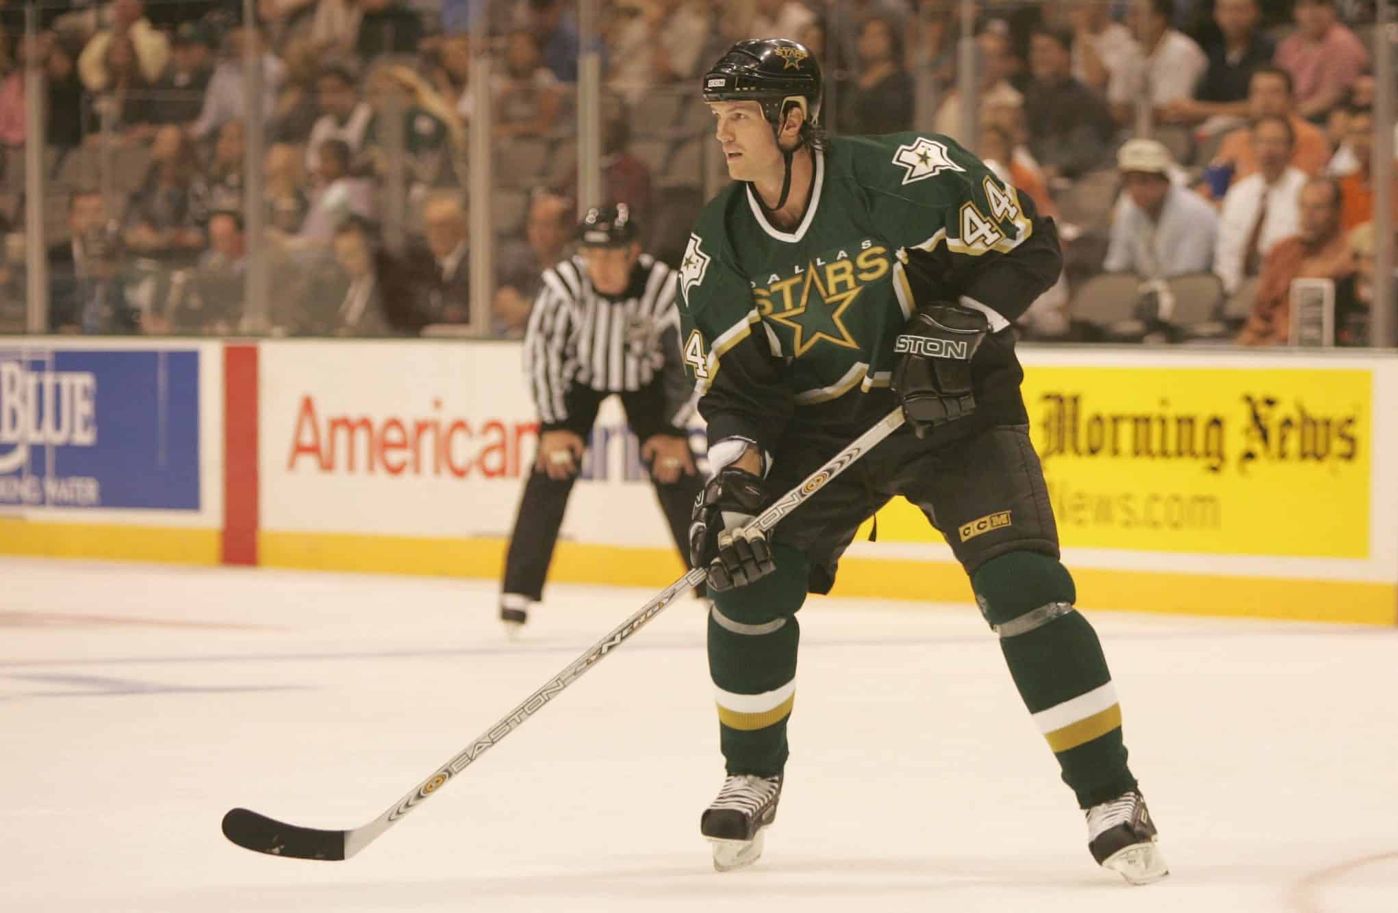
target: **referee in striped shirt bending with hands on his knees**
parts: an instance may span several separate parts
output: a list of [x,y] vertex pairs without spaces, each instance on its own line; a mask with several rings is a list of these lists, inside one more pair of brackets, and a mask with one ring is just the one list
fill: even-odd
[[542,596],[584,438],[612,394],[621,396],[681,558],[688,558],[689,510],[702,484],[681,426],[691,390],[678,362],[675,280],[668,266],[640,252],[637,238],[625,203],[589,211],[577,228],[579,253],[544,270],[530,313],[524,373],[540,438],[505,558],[500,621],[512,632]]

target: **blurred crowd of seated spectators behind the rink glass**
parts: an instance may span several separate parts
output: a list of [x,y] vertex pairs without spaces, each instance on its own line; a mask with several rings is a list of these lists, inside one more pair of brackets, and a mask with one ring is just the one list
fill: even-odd
[[0,331],[519,336],[580,206],[629,203],[678,260],[727,180],[698,77],[788,36],[832,133],[948,134],[1058,220],[1067,268],[1026,336],[1286,344],[1297,281],[1321,280],[1336,344],[1369,344],[1398,201],[1376,15],[3,0]]

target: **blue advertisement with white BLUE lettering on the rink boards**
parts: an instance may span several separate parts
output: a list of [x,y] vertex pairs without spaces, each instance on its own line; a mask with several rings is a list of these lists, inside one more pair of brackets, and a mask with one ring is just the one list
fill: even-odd
[[0,347],[0,508],[199,510],[199,351]]

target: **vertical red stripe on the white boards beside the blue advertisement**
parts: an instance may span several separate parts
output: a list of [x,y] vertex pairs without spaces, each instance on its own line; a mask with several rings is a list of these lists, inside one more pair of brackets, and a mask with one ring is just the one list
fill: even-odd
[[224,563],[257,563],[257,347],[224,347]]

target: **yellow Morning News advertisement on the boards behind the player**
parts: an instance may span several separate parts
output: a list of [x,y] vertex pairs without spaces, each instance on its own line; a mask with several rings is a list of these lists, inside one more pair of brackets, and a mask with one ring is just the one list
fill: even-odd
[[[1030,368],[1065,547],[1369,558],[1369,371]],[[928,541],[902,499],[879,538]]]

